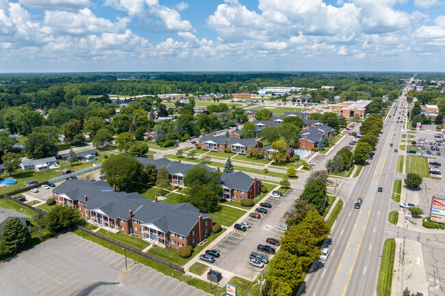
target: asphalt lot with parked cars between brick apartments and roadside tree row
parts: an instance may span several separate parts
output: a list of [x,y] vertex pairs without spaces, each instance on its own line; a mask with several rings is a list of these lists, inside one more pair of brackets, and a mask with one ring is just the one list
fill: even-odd
[[[229,270],[243,278],[254,280],[262,269],[249,265],[249,255],[251,252],[257,252],[270,258],[271,255],[259,252],[257,245],[268,245],[266,239],[269,237],[281,240],[284,231],[278,230],[277,226],[285,223],[283,215],[288,211],[295,197],[296,190],[291,189],[283,198],[262,200],[262,202],[272,204],[272,208],[267,208],[267,214],[260,214],[262,216],[260,219],[246,218],[244,222],[251,225],[251,228],[248,228],[246,232],[231,230],[224,239],[218,242],[213,249],[220,252],[220,258],[215,258],[213,265]],[[277,246],[270,246],[277,250]]]

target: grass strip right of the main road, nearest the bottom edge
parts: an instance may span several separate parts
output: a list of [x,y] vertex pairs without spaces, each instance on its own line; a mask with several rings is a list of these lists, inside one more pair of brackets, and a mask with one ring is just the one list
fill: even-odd
[[377,296],[390,296],[392,273],[394,269],[394,254],[396,240],[387,239],[383,243],[383,252],[380,262],[379,280],[377,280]]

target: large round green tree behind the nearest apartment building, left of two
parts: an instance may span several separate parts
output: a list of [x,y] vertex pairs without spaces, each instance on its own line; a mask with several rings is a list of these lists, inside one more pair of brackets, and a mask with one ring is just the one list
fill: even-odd
[[144,165],[129,154],[116,154],[105,159],[101,174],[110,185],[116,185],[125,192],[135,191],[137,183],[146,180]]

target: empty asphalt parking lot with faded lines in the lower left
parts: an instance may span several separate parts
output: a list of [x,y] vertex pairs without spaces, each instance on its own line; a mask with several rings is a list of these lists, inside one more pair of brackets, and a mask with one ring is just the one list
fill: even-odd
[[206,293],[73,233],[0,263],[0,295],[204,296]]

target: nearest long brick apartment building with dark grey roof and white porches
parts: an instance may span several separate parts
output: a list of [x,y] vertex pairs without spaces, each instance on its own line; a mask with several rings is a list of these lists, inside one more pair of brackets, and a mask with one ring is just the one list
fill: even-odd
[[90,223],[114,233],[138,234],[161,247],[194,247],[212,232],[212,216],[189,203],[152,202],[137,192],[118,192],[103,180],[65,180],[53,189],[53,198],[76,208]]

